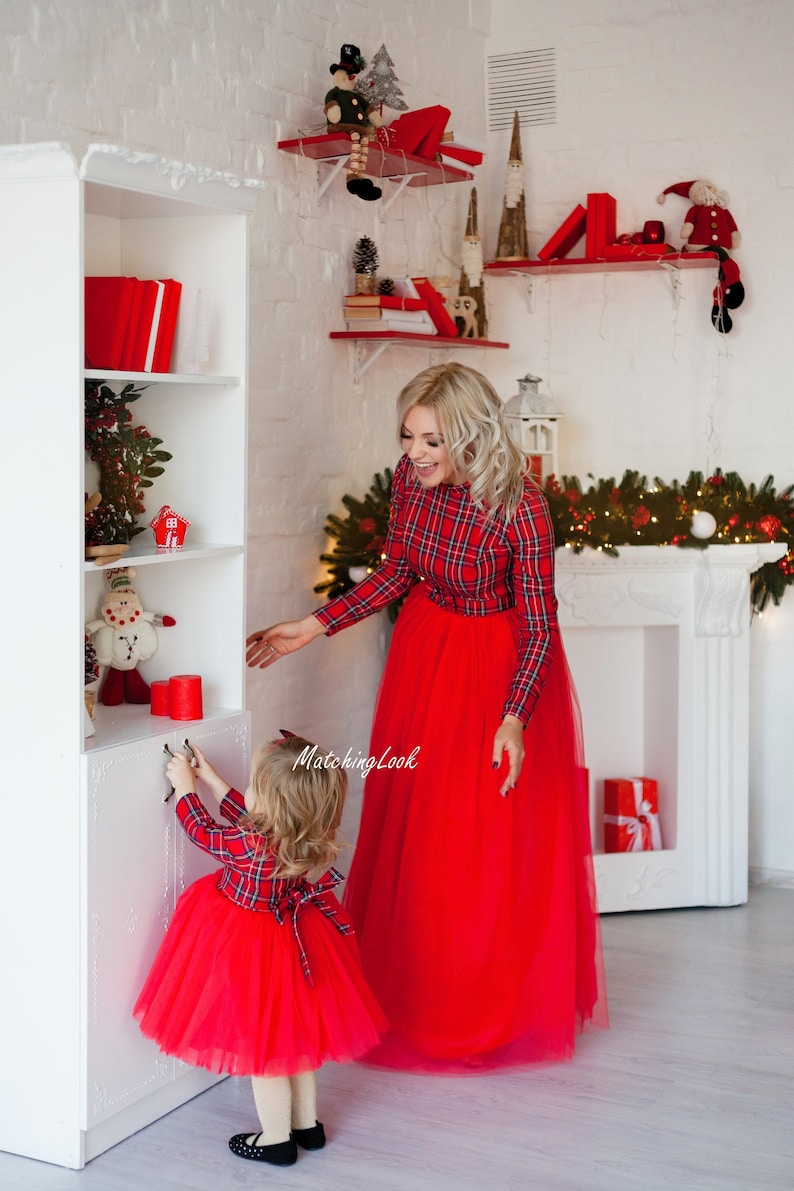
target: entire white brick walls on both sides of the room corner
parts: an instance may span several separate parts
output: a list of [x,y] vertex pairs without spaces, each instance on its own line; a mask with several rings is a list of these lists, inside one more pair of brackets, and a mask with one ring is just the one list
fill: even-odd
[[[490,333],[513,348],[465,358],[504,397],[527,369],[544,376],[569,414],[568,470],[720,464],[782,485],[794,479],[793,33],[788,0],[0,0],[1,141],[62,139],[77,154],[111,141],[268,179],[251,227],[251,628],[313,606],[325,515],[394,461],[394,395],[430,362],[392,350],[354,387],[348,348],[327,332],[342,325],[355,241],[373,236],[388,272],[459,262],[468,187],[412,191],[381,222],[340,181],[318,204],[315,167],[276,150],[321,124],[339,45],[371,56],[385,42],[409,106],[445,104],[480,137],[486,51],[557,48],[557,124],[523,136],[533,249],[593,189],[618,198],[620,230],[661,217],[673,236],[683,200],[659,208],[657,191],[713,175],[744,237],[748,300],[731,336],[711,328],[707,274],[687,275],[677,314],[656,275],[569,279],[551,305],[537,285],[532,311],[524,283],[505,279],[488,286]],[[486,255],[507,138],[490,145],[477,182]],[[256,734],[285,724],[365,748],[381,622],[252,674]],[[754,628],[751,848],[767,869],[794,869],[793,662],[789,594]]]

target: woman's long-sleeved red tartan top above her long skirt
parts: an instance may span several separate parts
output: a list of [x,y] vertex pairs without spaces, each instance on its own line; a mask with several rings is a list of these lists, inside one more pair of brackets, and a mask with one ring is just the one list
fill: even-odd
[[512,520],[488,520],[468,484],[424,488],[404,455],[394,469],[385,554],[377,570],[314,612],[326,635],[377,612],[419,580],[450,612],[514,607],[519,647],[502,716],[527,724],[558,634],[554,526],[543,493],[527,480]]

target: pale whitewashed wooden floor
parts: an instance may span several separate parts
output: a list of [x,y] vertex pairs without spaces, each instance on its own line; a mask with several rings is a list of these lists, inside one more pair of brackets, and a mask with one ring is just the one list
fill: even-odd
[[571,1064],[439,1079],[324,1068],[330,1143],[288,1170],[235,1158],[229,1079],[67,1171],[0,1154],[4,1191],[792,1191],[794,892],[602,921],[612,1029]]

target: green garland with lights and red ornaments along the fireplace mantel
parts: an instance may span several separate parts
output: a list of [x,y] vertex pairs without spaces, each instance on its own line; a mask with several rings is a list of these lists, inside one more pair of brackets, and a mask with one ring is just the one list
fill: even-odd
[[[752,607],[762,612],[769,600],[780,604],[786,588],[794,582],[794,484],[776,492],[770,475],[757,487],[745,485],[736,472],[718,468],[707,479],[690,472],[680,484],[655,479],[649,487],[639,472],[625,472],[619,484],[614,478],[596,480],[584,488],[575,475],[558,480],[550,475],[544,492],[555,529],[555,544],[567,545],[580,554],[584,547],[618,555],[619,545],[679,545],[704,550],[707,545],[739,542],[788,542],[790,548],[779,562],[767,562],[750,580]],[[392,492],[392,472],[375,475],[363,499],[345,495],[342,504],[346,517],[329,515],[325,531],[335,545],[320,555],[330,578],[318,584],[315,592],[342,596],[355,586],[351,567],[374,570],[380,566],[386,543]],[[706,541],[693,537],[695,512],[709,512],[717,522],[714,535]],[[392,619],[399,605],[389,607]]]

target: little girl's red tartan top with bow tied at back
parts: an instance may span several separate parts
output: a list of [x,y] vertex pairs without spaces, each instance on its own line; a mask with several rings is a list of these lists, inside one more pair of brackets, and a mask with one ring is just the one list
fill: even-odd
[[230,790],[220,804],[220,812],[232,827],[221,827],[206,809],[198,794],[185,794],[176,804],[176,815],[188,837],[202,852],[217,856],[223,863],[218,888],[244,910],[273,913],[279,923],[292,922],[306,979],[312,983],[306,952],[300,937],[298,918],[313,904],[343,935],[352,927],[338,917],[339,903],[333,886],[343,880],[342,873],[330,868],[319,881],[304,877],[274,877],[275,858],[268,841],[246,823],[245,800],[237,790]]

